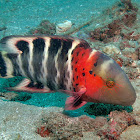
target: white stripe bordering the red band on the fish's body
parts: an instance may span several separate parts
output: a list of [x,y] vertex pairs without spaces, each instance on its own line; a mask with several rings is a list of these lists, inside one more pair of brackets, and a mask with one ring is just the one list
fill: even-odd
[[67,90],[71,90],[72,88],[72,67],[71,67],[71,60],[72,60],[72,51],[77,47],[77,45],[80,43],[80,40],[74,40],[72,42],[72,48],[68,51],[68,61],[66,62],[66,65],[68,66],[67,71],[69,72],[69,77],[66,77],[67,81],[66,82],[66,88]]

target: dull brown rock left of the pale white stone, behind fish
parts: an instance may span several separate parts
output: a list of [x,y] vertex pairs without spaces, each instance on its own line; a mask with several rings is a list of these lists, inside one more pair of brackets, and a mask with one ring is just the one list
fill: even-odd
[[33,34],[33,35],[41,35],[41,34],[47,34],[47,35],[53,35],[55,34],[55,24],[50,23],[48,20],[43,20],[38,27],[31,29],[27,34]]

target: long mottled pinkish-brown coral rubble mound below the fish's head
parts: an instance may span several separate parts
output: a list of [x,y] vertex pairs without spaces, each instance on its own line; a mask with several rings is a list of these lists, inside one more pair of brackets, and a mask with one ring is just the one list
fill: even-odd
[[112,111],[108,117],[96,119],[87,116],[71,118],[61,113],[50,112],[42,116],[42,121],[38,125],[37,133],[52,139],[81,140],[86,133],[91,132],[94,137],[98,135],[102,139],[114,140],[118,139],[127,127],[138,125],[138,122],[126,111]]

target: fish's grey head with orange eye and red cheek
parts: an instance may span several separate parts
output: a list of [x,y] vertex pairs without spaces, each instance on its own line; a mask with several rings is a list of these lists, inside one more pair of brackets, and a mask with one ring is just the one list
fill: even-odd
[[89,81],[90,95],[92,94],[94,102],[132,105],[136,100],[136,93],[121,67],[112,58],[100,52],[95,52],[93,58],[96,58],[96,63],[94,60],[92,64],[94,77]]

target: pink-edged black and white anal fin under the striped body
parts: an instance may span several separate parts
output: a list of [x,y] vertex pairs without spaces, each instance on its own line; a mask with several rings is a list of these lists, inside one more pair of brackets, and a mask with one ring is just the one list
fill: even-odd
[[29,79],[24,79],[17,86],[8,88],[12,91],[24,91],[31,93],[50,93],[52,92],[48,87],[44,86],[42,83],[32,82]]

